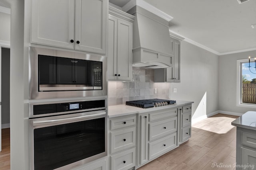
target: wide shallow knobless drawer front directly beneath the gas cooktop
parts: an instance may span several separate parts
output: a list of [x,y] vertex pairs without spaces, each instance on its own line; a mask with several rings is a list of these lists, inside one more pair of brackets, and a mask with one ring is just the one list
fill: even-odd
[[151,112],[149,113],[149,121],[157,121],[157,120],[166,119],[169,117],[174,117],[176,115],[177,115],[177,108]]

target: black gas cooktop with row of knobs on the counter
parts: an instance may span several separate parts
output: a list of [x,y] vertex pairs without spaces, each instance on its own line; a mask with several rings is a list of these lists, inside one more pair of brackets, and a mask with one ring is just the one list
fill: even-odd
[[125,104],[129,106],[149,108],[149,107],[166,106],[166,105],[175,104],[175,103],[176,103],[175,100],[147,99],[147,100],[127,101]]

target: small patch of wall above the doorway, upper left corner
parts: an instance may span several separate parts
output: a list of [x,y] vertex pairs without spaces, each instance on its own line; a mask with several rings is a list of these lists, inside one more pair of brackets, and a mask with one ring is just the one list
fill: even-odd
[[10,22],[11,16],[9,14],[0,12],[0,45],[1,41],[10,42]]

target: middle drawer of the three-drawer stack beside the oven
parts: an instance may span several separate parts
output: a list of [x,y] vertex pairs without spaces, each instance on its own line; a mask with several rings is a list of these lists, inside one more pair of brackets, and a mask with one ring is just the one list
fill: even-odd
[[136,127],[110,133],[111,153],[118,152],[136,145]]

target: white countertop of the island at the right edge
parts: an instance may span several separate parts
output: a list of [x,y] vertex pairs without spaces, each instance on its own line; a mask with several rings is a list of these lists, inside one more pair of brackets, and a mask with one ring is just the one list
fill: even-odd
[[231,125],[256,130],[256,111],[247,111],[231,122]]

